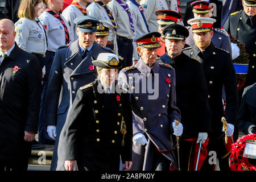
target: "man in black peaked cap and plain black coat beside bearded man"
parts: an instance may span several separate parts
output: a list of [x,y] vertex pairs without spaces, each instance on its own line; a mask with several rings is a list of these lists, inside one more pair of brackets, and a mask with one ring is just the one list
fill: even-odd
[[196,143],[205,142],[210,131],[207,84],[202,64],[181,52],[185,38],[189,35],[187,28],[180,24],[170,24],[163,28],[163,34],[167,52],[160,59],[175,69],[177,107],[184,126],[179,143],[180,152],[175,154],[180,155],[181,170],[187,171],[189,161],[192,160],[191,151]]

